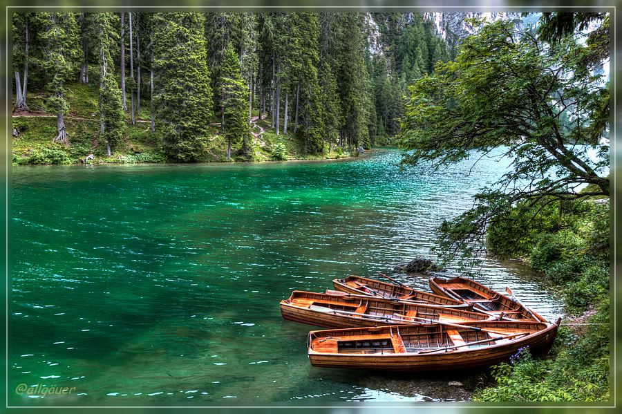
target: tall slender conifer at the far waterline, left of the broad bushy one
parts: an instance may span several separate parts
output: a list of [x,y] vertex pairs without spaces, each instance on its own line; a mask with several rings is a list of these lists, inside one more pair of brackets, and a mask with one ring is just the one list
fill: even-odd
[[123,104],[121,89],[117,84],[113,59],[110,55],[112,46],[117,42],[115,19],[112,13],[95,13],[97,34],[97,57],[100,63],[100,136],[106,142],[108,156],[120,143],[123,131]]

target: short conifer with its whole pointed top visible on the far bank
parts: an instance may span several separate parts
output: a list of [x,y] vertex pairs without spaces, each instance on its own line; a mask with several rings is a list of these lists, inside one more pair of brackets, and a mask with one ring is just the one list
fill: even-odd
[[243,156],[250,156],[252,148],[249,144],[250,128],[247,118],[248,87],[242,78],[240,61],[232,44],[225,49],[225,60],[220,66],[218,79],[220,95],[223,100],[223,136],[227,140],[227,160],[231,160],[232,145],[243,142]]

